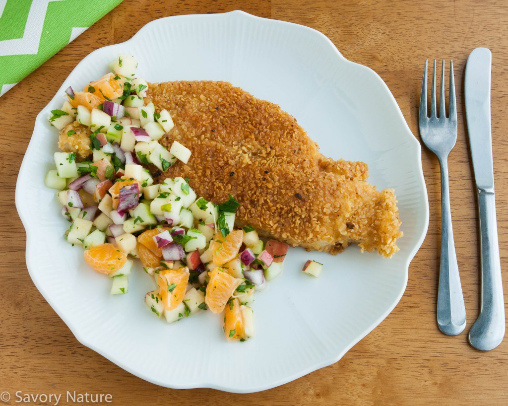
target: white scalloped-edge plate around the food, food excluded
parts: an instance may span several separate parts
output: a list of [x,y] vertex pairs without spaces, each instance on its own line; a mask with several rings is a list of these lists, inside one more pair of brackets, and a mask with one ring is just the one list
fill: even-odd
[[[150,82],[229,81],[279,104],[326,155],[367,162],[371,183],[395,188],[400,252],[384,259],[356,246],[338,256],[291,249],[283,274],[256,296],[257,336],[246,342],[227,342],[209,311],[172,325],[152,317],[143,297],[153,285],[141,269],[127,295],[109,295],[110,280],[63,240],[67,223],[43,177],[57,148],[49,111],[61,106],[68,86],[107,73],[118,53],[135,55],[139,76]],[[30,276],[83,345],[158,385],[231,392],[272,388],[338,361],[399,301],[429,217],[420,144],[383,80],[313,29],[239,11],[156,20],[85,57],[37,116],[16,207]],[[300,272],[308,258],[325,264],[320,278]]]

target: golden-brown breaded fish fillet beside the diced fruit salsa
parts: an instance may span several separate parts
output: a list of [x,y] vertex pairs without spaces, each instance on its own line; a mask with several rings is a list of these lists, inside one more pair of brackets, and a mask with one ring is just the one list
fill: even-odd
[[363,162],[326,158],[279,106],[213,81],[151,83],[148,99],[175,122],[160,143],[169,149],[177,140],[192,151],[187,164],[154,173],[159,180],[187,176],[198,196],[217,203],[231,194],[241,203],[237,226],[294,246],[398,251],[394,191],[369,184]]

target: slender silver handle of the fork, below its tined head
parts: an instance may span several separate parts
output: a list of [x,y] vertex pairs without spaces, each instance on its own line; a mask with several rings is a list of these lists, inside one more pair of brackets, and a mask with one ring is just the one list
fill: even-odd
[[457,335],[466,326],[466,308],[453,240],[447,159],[439,160],[439,165],[441,167],[441,260],[437,290],[437,324],[444,334]]

